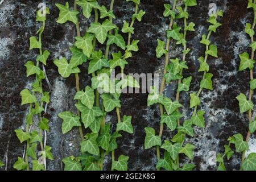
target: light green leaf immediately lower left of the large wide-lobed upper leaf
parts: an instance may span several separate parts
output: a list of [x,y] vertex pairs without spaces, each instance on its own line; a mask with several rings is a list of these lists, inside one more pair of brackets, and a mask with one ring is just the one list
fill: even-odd
[[76,36],[76,42],[74,46],[79,49],[82,49],[82,52],[87,56],[90,57],[93,51],[93,41],[94,36],[89,34],[88,32],[85,33],[84,37]]

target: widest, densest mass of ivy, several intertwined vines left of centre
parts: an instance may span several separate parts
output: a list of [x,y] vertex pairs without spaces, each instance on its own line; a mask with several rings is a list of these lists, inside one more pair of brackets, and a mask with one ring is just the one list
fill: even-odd
[[[129,157],[120,155],[118,160],[115,160],[114,154],[114,150],[118,147],[116,140],[122,137],[119,132],[125,131],[133,134],[131,116],[123,115],[121,118],[120,96],[122,89],[127,86],[139,87],[139,84],[133,77],[124,77],[123,74],[121,80],[110,80],[110,74],[117,67],[120,67],[123,73],[125,65],[128,64],[127,59],[132,56],[132,52],[138,51],[139,41],[131,41],[131,34],[134,33],[135,20],[140,22],[144,11],[138,11],[140,1],[133,2],[135,3],[135,14],[131,23],[125,21],[122,28],[123,33],[128,33],[127,44],[119,32],[119,28],[113,23],[113,19],[116,18],[113,12],[114,0],[110,2],[109,10],[96,0],[75,0],[73,10],[69,8],[68,2],[65,6],[56,4],[60,10],[57,22],[70,21],[75,24],[77,30],[76,41],[71,47],[73,53],[71,60],[67,61],[65,58],[60,58],[54,61],[62,77],[69,77],[72,73],[75,73],[76,77],[77,92],[73,98],[77,101],[75,106],[78,113],[76,115],[71,111],[63,111],[63,113],[59,113],[59,117],[63,119],[63,133],[68,133],[73,127],[79,127],[81,155],[64,158],[64,170],[102,170],[104,169],[105,154],[109,154],[109,152],[112,153],[112,170],[127,169]],[[77,14],[80,13],[77,10],[77,5],[82,9],[85,18],[90,18],[92,11],[94,11],[94,22],[88,26],[82,36],[77,18]],[[106,43],[105,53],[104,50],[97,49],[98,44],[104,43]],[[112,53],[112,59],[109,57],[110,46],[121,49]],[[88,74],[92,75],[92,85],[85,85],[85,88],[80,90],[79,66],[86,61],[89,62]],[[115,88],[114,92],[112,92],[112,88]],[[103,90],[104,93],[99,93],[99,89]],[[118,123],[116,131],[111,132],[110,126],[114,123],[106,124],[105,116],[113,110],[117,112]],[[83,127],[86,129],[86,134],[82,131]]]

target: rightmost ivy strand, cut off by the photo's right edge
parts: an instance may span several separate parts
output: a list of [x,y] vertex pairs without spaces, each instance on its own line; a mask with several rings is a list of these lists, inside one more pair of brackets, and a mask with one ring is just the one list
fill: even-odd
[[242,161],[241,161],[241,169],[244,171],[256,171],[256,153],[251,152],[249,155],[245,155],[245,152],[249,150],[248,142],[250,139],[251,134],[253,134],[256,131],[256,119],[253,120],[253,107],[254,104],[251,101],[253,92],[255,89],[255,83],[256,79],[253,77],[253,69],[254,69],[254,52],[255,52],[255,45],[256,42],[254,42],[254,29],[255,29],[255,24],[256,24],[256,1],[255,0],[249,0],[248,2],[248,9],[253,9],[254,12],[254,19],[253,19],[253,24],[246,23],[245,25],[245,33],[250,37],[251,43],[250,43],[250,48],[251,48],[251,56],[249,56],[249,53],[243,52],[239,55],[240,57],[240,66],[238,68],[238,71],[245,71],[249,69],[249,76],[250,76],[250,89],[249,89],[249,96],[247,97],[245,94],[240,93],[236,99],[239,104],[240,108],[240,113],[245,113],[247,112],[248,118],[249,118],[249,130],[246,135],[246,139],[244,140],[242,134],[235,134],[232,137],[229,137],[229,145],[224,146],[225,147],[225,152],[223,155],[218,154],[217,162],[219,163],[218,165],[218,170],[224,171],[226,170],[225,168],[225,163],[224,159],[226,158],[229,160],[232,157],[232,154],[234,151],[232,148],[230,148],[230,144],[234,144],[234,147],[236,148],[236,152],[242,152]]

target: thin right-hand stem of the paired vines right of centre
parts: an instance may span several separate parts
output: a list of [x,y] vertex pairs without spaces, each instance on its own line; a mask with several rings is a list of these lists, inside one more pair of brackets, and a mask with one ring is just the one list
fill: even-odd
[[[188,6],[185,5],[184,12],[187,12],[187,8],[188,8]],[[183,34],[183,39],[184,40],[186,39],[186,35],[187,35],[187,30],[186,30],[187,26],[188,26],[187,25],[187,18],[184,17],[184,34]],[[185,59],[186,59],[186,55],[187,55],[187,53],[185,53],[186,49],[187,49],[187,43],[185,42],[184,46],[183,46],[182,61],[185,61]],[[180,75],[182,75],[182,72],[183,72],[183,69],[180,70]],[[181,79],[178,80],[178,84],[177,85],[179,86],[179,84],[181,84]],[[176,93],[176,101],[179,101],[179,97],[180,97],[180,92],[177,91],[177,93]],[[179,108],[177,108],[176,111],[179,111]],[[180,126],[180,119],[177,119],[177,126]],[[183,142],[184,142],[184,140],[183,140]],[[182,145],[183,145],[183,142],[182,142]],[[176,163],[177,163],[177,166],[179,167],[179,154],[177,156]]]

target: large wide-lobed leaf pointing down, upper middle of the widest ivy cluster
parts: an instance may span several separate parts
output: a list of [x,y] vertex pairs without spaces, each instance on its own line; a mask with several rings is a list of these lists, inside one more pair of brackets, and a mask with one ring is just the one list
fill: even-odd
[[106,19],[102,24],[93,22],[90,24],[87,32],[96,35],[98,42],[103,44],[108,36],[108,31],[116,28],[115,24],[111,23],[109,19]]

